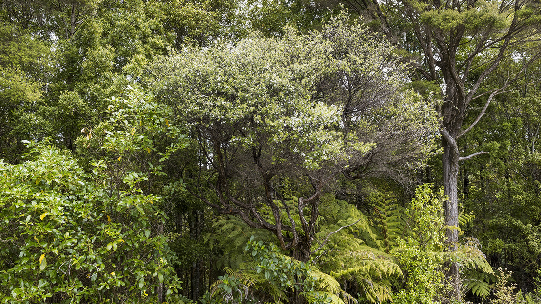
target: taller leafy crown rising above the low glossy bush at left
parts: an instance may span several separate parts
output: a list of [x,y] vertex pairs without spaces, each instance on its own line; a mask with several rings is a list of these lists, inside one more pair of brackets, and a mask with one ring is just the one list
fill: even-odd
[[[76,143],[78,153],[85,157],[101,158],[107,166],[111,182],[116,187],[135,187],[148,194],[152,183],[164,183],[164,166],[171,154],[186,147],[186,136],[169,123],[171,115],[156,103],[151,94],[138,87],[128,86],[121,97],[111,97],[107,108],[109,119],[93,128],[81,130],[83,136]],[[176,188],[182,180],[175,180]],[[171,186],[169,191],[174,191]]]

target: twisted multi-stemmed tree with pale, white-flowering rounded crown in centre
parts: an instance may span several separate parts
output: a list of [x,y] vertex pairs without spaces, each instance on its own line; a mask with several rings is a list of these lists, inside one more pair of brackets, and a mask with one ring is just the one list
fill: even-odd
[[436,113],[400,91],[391,50],[342,17],[310,35],[164,58],[154,90],[197,148],[195,170],[183,167],[190,193],[307,261],[319,200],[340,175],[406,182],[433,152]]

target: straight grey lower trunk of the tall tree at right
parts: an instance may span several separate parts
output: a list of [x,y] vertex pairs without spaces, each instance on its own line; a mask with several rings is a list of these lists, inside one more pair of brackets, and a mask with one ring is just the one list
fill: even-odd
[[[445,235],[447,237],[447,249],[455,251],[458,244],[458,146],[456,141],[442,139],[443,156],[441,163],[443,164],[443,185],[444,194],[447,195],[445,201],[445,224],[447,229]],[[456,262],[451,262],[447,271],[447,278],[451,280],[453,289],[451,298],[460,301],[460,272]]]

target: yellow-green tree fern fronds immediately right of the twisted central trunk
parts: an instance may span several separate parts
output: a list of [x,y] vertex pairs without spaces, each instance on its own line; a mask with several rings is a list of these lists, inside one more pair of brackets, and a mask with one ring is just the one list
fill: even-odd
[[[352,282],[372,303],[391,301],[389,278],[402,273],[393,257],[383,251],[384,242],[370,220],[345,201],[332,201],[332,204],[322,205],[321,210],[328,219],[317,234],[318,239],[327,240],[319,244],[319,251],[315,253],[314,260],[320,269],[337,281]],[[333,232],[336,233],[328,236]]]

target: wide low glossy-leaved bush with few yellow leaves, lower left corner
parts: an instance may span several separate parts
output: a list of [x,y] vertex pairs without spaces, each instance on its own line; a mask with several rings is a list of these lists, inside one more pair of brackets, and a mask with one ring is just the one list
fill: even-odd
[[29,143],[20,165],[1,163],[3,302],[174,301],[175,256],[160,231],[160,197],[109,187],[102,161],[85,173],[67,152]]

